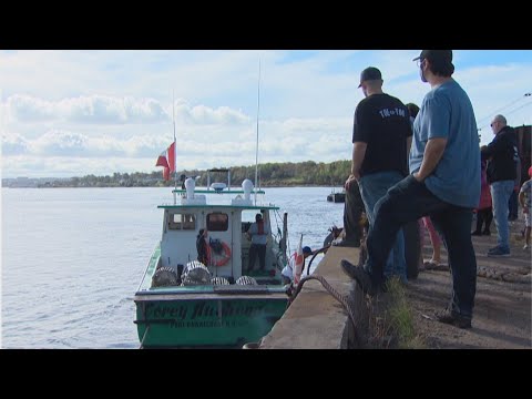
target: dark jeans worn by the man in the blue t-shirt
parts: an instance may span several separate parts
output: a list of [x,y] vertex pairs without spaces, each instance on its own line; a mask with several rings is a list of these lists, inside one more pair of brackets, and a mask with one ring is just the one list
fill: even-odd
[[385,282],[383,268],[397,232],[408,222],[430,215],[449,255],[452,295],[449,309],[472,318],[477,290],[477,258],[471,243],[472,209],[439,200],[412,175],[403,178],[375,206],[375,224],[367,238],[368,263],[374,284]]

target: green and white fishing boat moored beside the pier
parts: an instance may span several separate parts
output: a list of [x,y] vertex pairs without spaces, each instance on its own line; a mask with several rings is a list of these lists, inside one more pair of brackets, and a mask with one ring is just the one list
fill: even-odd
[[[227,183],[211,184],[214,172],[227,173]],[[206,188],[186,178],[185,190],[173,190],[171,204],[157,206],[163,212],[162,237],[134,296],[142,348],[242,348],[257,342],[283,316],[288,305],[280,275],[287,214],[280,216],[279,207],[263,203],[264,194],[250,180],[242,190],[232,187],[231,170],[208,170]],[[256,214],[277,232],[269,233],[264,270],[258,270],[258,259],[247,269],[246,233]],[[201,229],[208,232],[206,264],[197,260]]]

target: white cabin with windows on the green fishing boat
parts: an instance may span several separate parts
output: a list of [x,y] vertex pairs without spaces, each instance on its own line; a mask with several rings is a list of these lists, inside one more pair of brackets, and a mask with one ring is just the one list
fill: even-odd
[[[229,284],[242,276],[250,276],[258,285],[279,285],[285,259],[279,245],[282,237],[275,237],[275,234],[269,234],[267,239],[265,270],[259,270],[258,258],[253,270],[248,270],[252,242],[247,231],[256,214],[262,214],[270,232],[279,231],[272,226],[272,216],[279,208],[269,204],[256,205],[252,201],[253,188],[253,183],[246,180],[242,191],[216,183],[206,190],[196,190],[195,180],[187,178],[185,190],[174,190],[174,204],[158,206],[164,209],[164,217],[156,268],[172,268],[178,278],[183,268],[198,258],[196,239],[200,231],[206,229],[209,256],[205,266],[211,276],[224,277]],[[207,202],[209,194],[216,201]],[[236,194],[236,197],[224,203],[222,194]],[[255,194],[264,192],[255,191]]]

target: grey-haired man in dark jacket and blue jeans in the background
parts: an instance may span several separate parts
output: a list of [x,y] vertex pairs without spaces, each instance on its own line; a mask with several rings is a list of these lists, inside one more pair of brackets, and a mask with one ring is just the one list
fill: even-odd
[[481,150],[482,160],[489,160],[487,175],[491,184],[493,217],[497,225],[497,246],[488,250],[490,257],[510,256],[510,228],[508,202],[515,184],[515,157],[518,144],[515,131],[507,125],[507,119],[497,115],[490,124],[493,141]]

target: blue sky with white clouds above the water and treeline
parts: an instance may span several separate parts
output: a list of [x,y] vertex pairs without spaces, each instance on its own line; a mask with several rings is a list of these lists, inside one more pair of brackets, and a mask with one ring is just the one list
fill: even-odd
[[[359,74],[421,103],[420,50],[1,51],[2,177],[160,171],[173,140],[177,170],[253,165],[260,60],[259,163],[349,160]],[[456,50],[481,142],[499,112],[532,124],[531,50]]]

